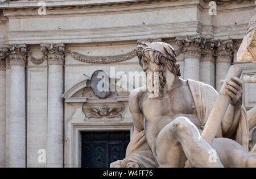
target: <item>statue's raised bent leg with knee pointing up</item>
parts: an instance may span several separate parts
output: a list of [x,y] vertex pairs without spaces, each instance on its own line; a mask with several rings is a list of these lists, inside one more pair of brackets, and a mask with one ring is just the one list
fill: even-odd
[[179,117],[164,127],[156,140],[156,161],[160,167],[183,167],[189,159],[196,167],[223,167],[216,153],[212,162],[213,148],[201,138],[195,124],[188,118]]

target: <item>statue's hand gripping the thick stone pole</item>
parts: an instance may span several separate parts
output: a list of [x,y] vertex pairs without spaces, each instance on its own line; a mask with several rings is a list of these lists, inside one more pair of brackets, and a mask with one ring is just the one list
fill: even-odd
[[237,77],[232,77],[230,81],[226,81],[226,93],[232,99],[230,104],[237,108],[242,105],[242,80]]

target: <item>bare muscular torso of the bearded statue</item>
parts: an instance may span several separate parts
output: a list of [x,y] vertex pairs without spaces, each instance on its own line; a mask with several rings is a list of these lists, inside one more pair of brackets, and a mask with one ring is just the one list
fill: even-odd
[[200,130],[201,124],[196,117],[195,105],[187,83],[164,93],[161,100],[148,98],[144,93],[139,100],[139,109],[145,118],[145,135],[153,153],[159,132],[179,116],[187,117]]

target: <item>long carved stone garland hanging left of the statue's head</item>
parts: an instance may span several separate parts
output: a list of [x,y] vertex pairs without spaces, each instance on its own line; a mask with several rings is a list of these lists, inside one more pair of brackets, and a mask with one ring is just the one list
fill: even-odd
[[136,50],[134,49],[131,52],[125,53],[123,55],[115,55],[115,56],[86,56],[82,55],[77,52],[72,52],[71,56],[75,60],[79,60],[84,63],[90,63],[90,64],[111,64],[111,63],[118,63],[126,60],[130,60],[133,57],[135,57]]

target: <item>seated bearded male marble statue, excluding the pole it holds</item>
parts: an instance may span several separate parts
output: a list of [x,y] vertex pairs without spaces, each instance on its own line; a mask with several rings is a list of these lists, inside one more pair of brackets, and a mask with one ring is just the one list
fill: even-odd
[[[256,159],[247,151],[248,123],[239,78],[226,82],[232,101],[210,145],[201,133],[217,91],[203,82],[179,78],[179,64],[169,44],[143,41],[137,56],[144,72],[158,72],[159,90],[131,91],[135,131],[126,158],[110,167],[256,167]],[[148,93],[158,94],[149,98]]]

